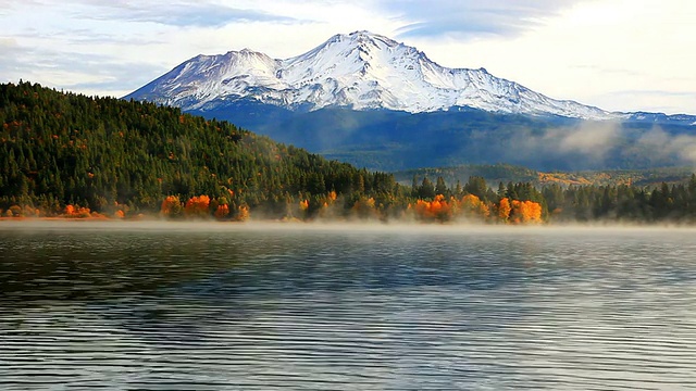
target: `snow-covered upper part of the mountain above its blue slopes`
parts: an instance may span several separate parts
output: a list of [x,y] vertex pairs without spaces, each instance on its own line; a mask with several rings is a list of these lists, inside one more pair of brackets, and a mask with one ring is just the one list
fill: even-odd
[[248,49],[198,55],[125,98],[203,111],[253,99],[310,111],[348,106],[420,113],[469,106],[585,119],[621,116],[548,98],[484,68],[443,67],[415,48],[368,31],[336,35],[287,60]]

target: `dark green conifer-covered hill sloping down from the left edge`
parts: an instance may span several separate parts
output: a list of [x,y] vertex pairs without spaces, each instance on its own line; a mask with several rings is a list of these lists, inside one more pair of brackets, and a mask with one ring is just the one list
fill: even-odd
[[[160,211],[163,200],[206,194],[234,216],[325,198],[386,197],[387,174],[327,161],[219,121],[115,98],[0,85],[0,209],[66,205],[104,214]],[[211,205],[212,207],[212,205]],[[232,218],[232,217],[231,217]]]

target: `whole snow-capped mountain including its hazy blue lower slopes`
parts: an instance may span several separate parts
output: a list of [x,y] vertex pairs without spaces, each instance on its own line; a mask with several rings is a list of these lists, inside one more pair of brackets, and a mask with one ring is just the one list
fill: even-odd
[[696,116],[612,113],[485,70],[447,68],[368,31],[277,60],[198,55],[125,97],[173,105],[360,167],[539,171],[693,165]]

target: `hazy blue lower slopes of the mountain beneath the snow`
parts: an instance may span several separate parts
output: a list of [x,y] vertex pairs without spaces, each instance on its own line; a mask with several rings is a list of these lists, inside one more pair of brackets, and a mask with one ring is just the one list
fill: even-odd
[[322,109],[294,113],[260,103],[194,111],[233,119],[274,140],[358,167],[397,172],[506,163],[542,172],[693,165],[693,126],[592,122],[482,110],[407,113]]

